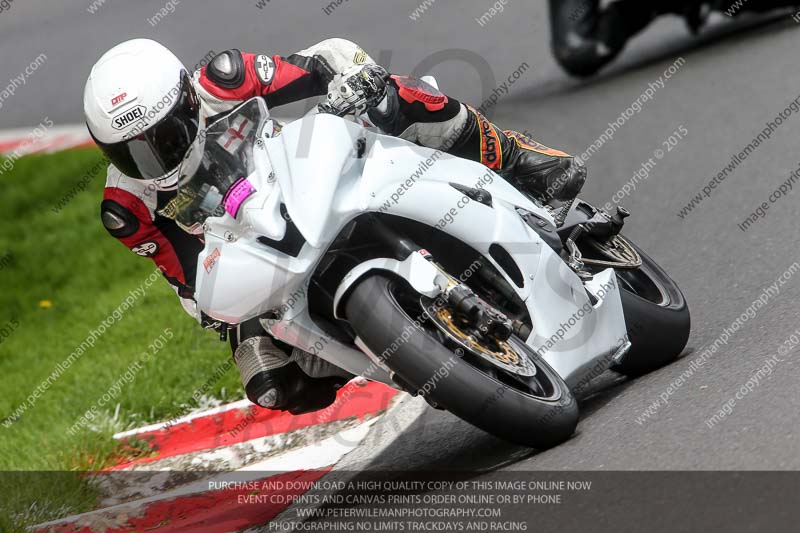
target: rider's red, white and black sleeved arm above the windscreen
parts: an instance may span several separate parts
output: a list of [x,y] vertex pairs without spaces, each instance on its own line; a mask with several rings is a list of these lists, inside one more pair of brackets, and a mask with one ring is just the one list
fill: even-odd
[[357,44],[327,39],[287,57],[227,50],[195,73],[195,81],[200,96],[216,112],[254,96],[276,107],[324,95],[337,74],[374,63]]

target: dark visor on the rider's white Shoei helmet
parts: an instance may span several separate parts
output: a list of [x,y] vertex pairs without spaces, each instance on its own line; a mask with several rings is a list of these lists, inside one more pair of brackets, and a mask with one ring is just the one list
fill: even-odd
[[[177,99],[167,116],[124,141],[94,139],[109,161],[131,178],[152,180],[175,171],[197,136],[200,103],[184,71]],[[94,138],[94,136],[92,136]]]

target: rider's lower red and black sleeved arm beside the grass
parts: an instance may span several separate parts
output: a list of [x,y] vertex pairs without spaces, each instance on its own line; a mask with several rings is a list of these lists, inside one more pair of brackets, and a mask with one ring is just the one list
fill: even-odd
[[203,244],[175,221],[156,213],[158,196],[164,194],[111,167],[100,208],[103,226],[132,252],[152,259],[175,289],[184,310],[197,318],[192,298],[197,255]]

